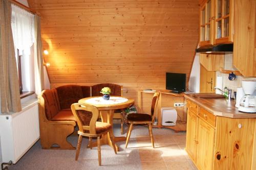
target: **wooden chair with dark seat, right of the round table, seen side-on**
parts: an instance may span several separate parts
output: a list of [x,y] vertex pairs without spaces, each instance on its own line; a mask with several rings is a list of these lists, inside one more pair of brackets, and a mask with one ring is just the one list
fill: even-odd
[[158,99],[159,99],[159,92],[156,92],[152,99],[151,114],[132,113],[132,114],[127,115],[127,123],[130,124],[130,128],[129,128],[129,131],[127,132],[125,148],[127,148],[128,141],[130,139],[134,124],[147,124],[148,125],[148,132],[150,133],[151,143],[152,143],[153,148],[155,148],[154,138],[153,138],[153,133],[152,133],[152,124],[155,121],[155,114],[156,114],[156,110],[157,110],[156,106],[157,106]]

